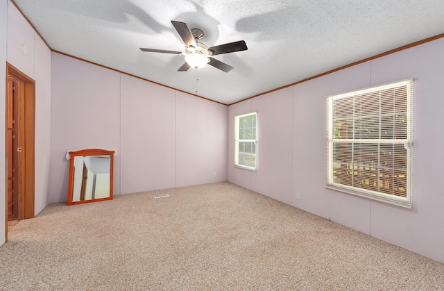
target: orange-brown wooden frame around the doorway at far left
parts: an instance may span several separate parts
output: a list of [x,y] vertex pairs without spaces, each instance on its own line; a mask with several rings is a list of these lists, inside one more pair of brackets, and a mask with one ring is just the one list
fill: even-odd
[[[18,133],[22,144],[21,157],[19,157],[19,220],[34,217],[34,191],[35,191],[35,81],[20,72],[19,69],[6,62],[6,84],[8,76],[12,76],[23,82],[22,94],[19,94],[19,116],[17,117],[19,128]],[[8,94],[8,92],[6,92]],[[5,100],[6,102],[6,100]],[[6,124],[5,124],[6,126]],[[5,130],[6,131],[6,130]],[[6,132],[5,132],[6,135]],[[5,141],[6,147],[6,141]],[[5,151],[5,161],[8,163]],[[6,167],[5,163],[5,167]],[[5,174],[5,200],[8,207],[8,175]],[[8,240],[8,213],[5,211],[6,220],[6,241]]]

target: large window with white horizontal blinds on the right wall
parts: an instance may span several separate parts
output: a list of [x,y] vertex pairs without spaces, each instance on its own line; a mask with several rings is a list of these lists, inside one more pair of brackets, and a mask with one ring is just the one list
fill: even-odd
[[327,188],[411,207],[412,84],[327,97]]

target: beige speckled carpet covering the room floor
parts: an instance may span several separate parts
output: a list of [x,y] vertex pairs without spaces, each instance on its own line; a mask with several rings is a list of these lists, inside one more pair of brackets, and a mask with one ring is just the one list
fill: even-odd
[[10,230],[0,290],[444,290],[444,264],[214,183],[51,204]]

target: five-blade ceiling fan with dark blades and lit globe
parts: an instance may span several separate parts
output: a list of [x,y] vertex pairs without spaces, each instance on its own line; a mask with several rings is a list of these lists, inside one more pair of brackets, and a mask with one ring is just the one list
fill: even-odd
[[185,42],[185,51],[168,51],[165,49],[145,49],[140,48],[141,51],[150,51],[153,53],[173,53],[181,56],[185,56],[185,63],[178,69],[179,72],[185,72],[190,67],[196,69],[208,64],[217,69],[221,69],[223,72],[230,72],[234,69],[232,66],[227,65],[220,60],[212,58],[212,56],[220,55],[222,53],[234,53],[235,51],[246,51],[247,45],[244,40],[238,42],[230,42],[228,44],[220,44],[214,47],[207,47],[202,42],[205,36],[203,31],[198,28],[192,28],[189,30],[188,26],[184,22],[176,22],[171,20],[174,28],[178,31],[180,38]]

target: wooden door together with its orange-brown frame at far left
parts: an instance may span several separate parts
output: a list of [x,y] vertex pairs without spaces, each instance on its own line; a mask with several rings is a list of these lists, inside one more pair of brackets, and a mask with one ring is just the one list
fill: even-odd
[[35,81],[6,63],[6,241],[8,222],[34,217]]

